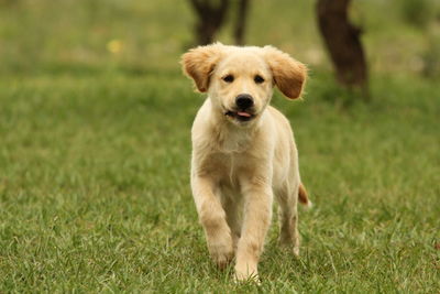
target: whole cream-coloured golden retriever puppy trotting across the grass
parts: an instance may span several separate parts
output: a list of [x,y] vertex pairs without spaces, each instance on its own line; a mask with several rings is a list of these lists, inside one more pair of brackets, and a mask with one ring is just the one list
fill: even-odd
[[220,43],[183,55],[184,72],[208,98],[191,130],[191,189],[209,252],[235,277],[258,279],[257,263],[272,218],[280,207],[282,244],[299,253],[297,200],[308,206],[288,120],[270,106],[274,86],[300,97],[307,68],[272,46]]

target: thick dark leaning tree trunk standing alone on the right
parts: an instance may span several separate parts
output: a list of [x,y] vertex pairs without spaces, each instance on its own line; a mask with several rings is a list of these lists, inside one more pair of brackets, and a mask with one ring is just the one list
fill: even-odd
[[350,0],[318,0],[318,25],[330,53],[338,80],[349,89],[360,89],[369,99],[367,68],[361,30],[349,22]]

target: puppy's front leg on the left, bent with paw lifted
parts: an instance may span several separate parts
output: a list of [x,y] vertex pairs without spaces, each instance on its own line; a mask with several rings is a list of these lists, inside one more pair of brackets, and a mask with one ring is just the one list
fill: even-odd
[[217,265],[223,269],[233,258],[233,246],[224,209],[215,194],[215,181],[195,175],[191,178],[191,187],[209,253]]

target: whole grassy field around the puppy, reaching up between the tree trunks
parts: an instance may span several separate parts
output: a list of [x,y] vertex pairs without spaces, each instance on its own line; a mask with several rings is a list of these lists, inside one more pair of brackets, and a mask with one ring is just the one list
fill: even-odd
[[[439,293],[439,80],[398,63],[422,36],[391,14],[416,45],[389,63],[389,50],[370,53],[372,102],[350,106],[326,56],[315,65],[309,55],[321,50],[317,35],[298,36],[307,95],[277,92],[274,105],[293,124],[315,208],[300,209],[300,259],[277,247],[274,219],[262,285],[233,284],[232,269],[209,259],[189,189],[189,130],[204,97],[177,63],[191,36],[178,2],[183,13],[148,1],[99,12],[82,0],[0,2],[0,292]],[[256,15],[274,9],[258,3]],[[371,28],[367,48],[387,39]],[[266,28],[264,40],[253,30],[253,43],[295,51],[290,26]]]

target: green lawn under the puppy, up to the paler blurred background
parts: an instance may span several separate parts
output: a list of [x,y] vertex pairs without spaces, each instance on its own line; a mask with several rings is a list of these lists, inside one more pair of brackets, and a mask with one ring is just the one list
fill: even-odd
[[[326,100],[326,80],[311,79],[304,102],[274,99],[316,208],[300,211],[299,260],[273,226],[261,291],[435,293],[436,84],[377,79],[371,105],[345,109]],[[208,257],[188,185],[201,98],[187,79],[37,77],[1,97],[1,292],[256,290]]]

